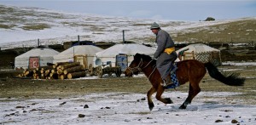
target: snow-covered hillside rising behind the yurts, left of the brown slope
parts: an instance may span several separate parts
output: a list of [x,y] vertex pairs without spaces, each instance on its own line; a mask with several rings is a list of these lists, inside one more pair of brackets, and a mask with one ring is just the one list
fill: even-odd
[[[109,17],[96,14],[67,14],[38,8],[17,8],[0,5],[0,47],[17,48],[41,45],[62,44],[67,41],[90,40],[93,42],[152,43],[145,37],[154,37],[150,24],[158,22],[162,29],[170,33],[186,31],[201,26],[212,26],[235,20],[217,21],[174,21],[143,20],[126,17]],[[238,19],[242,20],[242,19]]]

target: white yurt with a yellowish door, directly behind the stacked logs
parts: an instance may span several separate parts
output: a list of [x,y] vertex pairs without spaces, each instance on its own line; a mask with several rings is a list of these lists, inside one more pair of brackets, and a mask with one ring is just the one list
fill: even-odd
[[53,58],[53,63],[57,62],[80,62],[86,69],[89,65],[93,65],[93,59],[97,52],[102,51],[102,48],[98,48],[93,45],[78,45],[72,48],[67,48],[60,54],[56,54]]

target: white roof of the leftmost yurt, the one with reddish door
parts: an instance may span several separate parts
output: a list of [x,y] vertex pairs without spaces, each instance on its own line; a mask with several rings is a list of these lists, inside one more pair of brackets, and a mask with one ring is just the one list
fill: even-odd
[[55,54],[59,54],[59,52],[55,51],[52,48],[32,48],[26,53],[20,54],[16,58],[24,58],[24,57],[32,57],[32,56],[49,57]]

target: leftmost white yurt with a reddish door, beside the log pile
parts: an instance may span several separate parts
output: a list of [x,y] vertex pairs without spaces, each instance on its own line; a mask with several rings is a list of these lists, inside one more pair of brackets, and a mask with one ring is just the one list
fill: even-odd
[[30,51],[15,57],[15,69],[32,69],[46,66],[47,63],[53,63],[55,54],[59,54],[59,52],[52,48],[32,48]]

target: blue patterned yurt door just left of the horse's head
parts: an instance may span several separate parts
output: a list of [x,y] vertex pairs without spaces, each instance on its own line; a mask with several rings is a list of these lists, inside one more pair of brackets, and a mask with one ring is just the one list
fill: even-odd
[[119,65],[121,67],[121,71],[125,71],[128,66],[128,56],[127,54],[118,54],[116,55],[116,66]]

